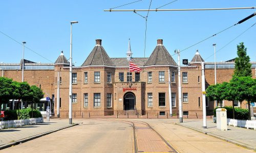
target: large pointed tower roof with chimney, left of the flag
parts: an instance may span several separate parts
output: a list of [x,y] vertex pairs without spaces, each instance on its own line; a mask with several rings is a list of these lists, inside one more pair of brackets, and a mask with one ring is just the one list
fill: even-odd
[[83,62],[81,66],[89,65],[106,65],[114,66],[108,54],[106,54],[105,49],[101,46],[101,39],[96,40],[96,45],[93,48],[90,55],[87,57],[86,61]]

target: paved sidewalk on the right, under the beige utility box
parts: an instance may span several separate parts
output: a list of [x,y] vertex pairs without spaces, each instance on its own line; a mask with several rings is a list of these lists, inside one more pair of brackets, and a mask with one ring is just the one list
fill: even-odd
[[190,120],[178,125],[188,127],[189,129],[219,138],[221,140],[256,151],[256,131],[241,127],[227,126],[227,131],[217,129],[217,124],[212,119],[207,119],[207,129],[203,129],[203,120]]

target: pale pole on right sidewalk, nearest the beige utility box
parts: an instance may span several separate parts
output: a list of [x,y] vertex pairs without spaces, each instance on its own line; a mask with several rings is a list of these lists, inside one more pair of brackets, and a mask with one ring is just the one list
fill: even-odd
[[203,97],[203,128],[207,129],[207,125],[206,125],[206,101],[205,101],[204,62],[202,62],[202,97]]

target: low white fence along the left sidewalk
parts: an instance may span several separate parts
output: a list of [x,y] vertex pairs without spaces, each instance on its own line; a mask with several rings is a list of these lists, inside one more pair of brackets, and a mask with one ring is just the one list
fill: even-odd
[[8,128],[15,128],[24,125],[32,125],[36,123],[44,122],[44,118],[29,118],[29,119],[19,119],[19,120],[7,120],[0,122],[0,130],[8,129]]

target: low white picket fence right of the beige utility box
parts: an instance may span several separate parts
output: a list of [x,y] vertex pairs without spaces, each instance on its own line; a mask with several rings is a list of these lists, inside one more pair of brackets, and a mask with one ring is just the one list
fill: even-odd
[[231,126],[256,130],[256,120],[239,120],[227,118],[227,124]]

